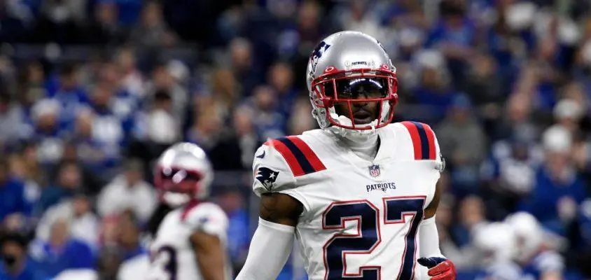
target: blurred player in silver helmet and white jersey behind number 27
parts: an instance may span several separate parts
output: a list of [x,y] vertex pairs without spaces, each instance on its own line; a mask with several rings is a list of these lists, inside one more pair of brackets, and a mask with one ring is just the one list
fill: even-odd
[[205,201],[213,171],[205,152],[190,143],[175,144],[158,159],[155,186],[173,208],[150,246],[150,280],[231,279],[225,256],[228,218]]

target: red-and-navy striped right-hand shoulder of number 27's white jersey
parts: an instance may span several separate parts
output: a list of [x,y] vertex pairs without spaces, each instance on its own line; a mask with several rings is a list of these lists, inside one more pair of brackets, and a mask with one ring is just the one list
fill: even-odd
[[408,147],[412,150],[412,159],[435,160],[439,163],[439,171],[443,172],[445,159],[440,151],[435,132],[429,125],[412,121],[396,123],[395,125],[398,126],[399,131],[403,131],[408,135],[410,144]]

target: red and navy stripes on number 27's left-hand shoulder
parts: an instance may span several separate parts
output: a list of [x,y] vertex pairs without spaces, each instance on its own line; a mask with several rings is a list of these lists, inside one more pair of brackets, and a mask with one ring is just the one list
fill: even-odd
[[[293,176],[302,176],[326,169],[318,158],[302,139],[290,136],[270,140],[275,150],[279,151],[286,160]],[[265,143],[268,145],[269,143]]]

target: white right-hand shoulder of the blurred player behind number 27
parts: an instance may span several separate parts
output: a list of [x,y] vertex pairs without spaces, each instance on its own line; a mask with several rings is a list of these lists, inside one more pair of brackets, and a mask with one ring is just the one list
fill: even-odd
[[225,240],[228,216],[218,205],[211,202],[188,205],[183,209],[182,218],[194,231],[200,230]]

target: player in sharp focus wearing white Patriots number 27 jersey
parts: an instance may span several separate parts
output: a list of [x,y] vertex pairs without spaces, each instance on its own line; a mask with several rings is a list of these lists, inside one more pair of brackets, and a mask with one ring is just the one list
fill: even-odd
[[294,238],[311,280],[455,278],[434,218],[437,139],[423,123],[391,124],[397,85],[375,38],[342,31],[317,45],[307,86],[321,129],[258,148],[260,218],[237,279],[275,279]]

